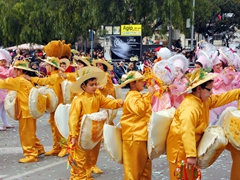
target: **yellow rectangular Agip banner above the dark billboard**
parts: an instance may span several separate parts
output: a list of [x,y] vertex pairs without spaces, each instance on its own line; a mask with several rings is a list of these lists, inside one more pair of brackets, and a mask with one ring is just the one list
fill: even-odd
[[142,25],[121,25],[121,36],[142,36]]

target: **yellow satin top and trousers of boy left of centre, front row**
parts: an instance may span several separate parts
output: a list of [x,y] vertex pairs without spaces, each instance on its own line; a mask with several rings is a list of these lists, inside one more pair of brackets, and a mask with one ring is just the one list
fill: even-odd
[[[100,108],[120,108],[122,106],[120,102],[121,100],[106,98],[99,92],[95,92],[94,94],[83,92],[77,95],[72,101],[72,106],[69,113],[68,124],[70,139],[75,137],[76,142],[78,142],[81,121],[84,114],[99,112]],[[83,150],[78,144],[75,145],[75,161],[78,169],[77,172],[76,170],[71,169],[71,180],[83,180],[89,178],[87,177],[86,170],[89,170],[92,167],[93,162],[91,160],[91,154],[95,155],[95,157],[98,157],[100,143],[101,142],[99,142],[92,150],[89,151]]]

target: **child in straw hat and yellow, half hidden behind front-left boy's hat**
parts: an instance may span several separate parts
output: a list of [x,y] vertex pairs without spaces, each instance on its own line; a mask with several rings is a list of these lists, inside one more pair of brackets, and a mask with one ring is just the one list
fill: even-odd
[[102,71],[104,71],[107,76],[107,84],[105,86],[101,86],[101,84],[100,84],[100,86],[98,87],[100,92],[104,96],[111,95],[112,97],[116,98],[112,78],[111,78],[110,74],[108,73],[108,71],[113,70],[113,66],[111,64],[109,64],[107,61],[105,61],[104,59],[93,60],[92,64],[94,66],[98,67],[99,69],[101,69]]

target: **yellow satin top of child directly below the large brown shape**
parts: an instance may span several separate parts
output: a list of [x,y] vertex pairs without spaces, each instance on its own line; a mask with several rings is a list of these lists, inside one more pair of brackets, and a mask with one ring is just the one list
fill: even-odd
[[59,71],[51,72],[51,75],[45,78],[31,77],[31,81],[38,85],[48,85],[54,90],[58,97],[58,104],[63,103],[61,83],[64,80],[58,75]]

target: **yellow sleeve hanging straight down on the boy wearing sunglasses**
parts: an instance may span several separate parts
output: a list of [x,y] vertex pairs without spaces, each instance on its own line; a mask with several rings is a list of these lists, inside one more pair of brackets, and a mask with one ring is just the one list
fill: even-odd
[[188,106],[182,108],[179,114],[180,131],[186,157],[197,157],[195,129],[199,120],[199,110]]

